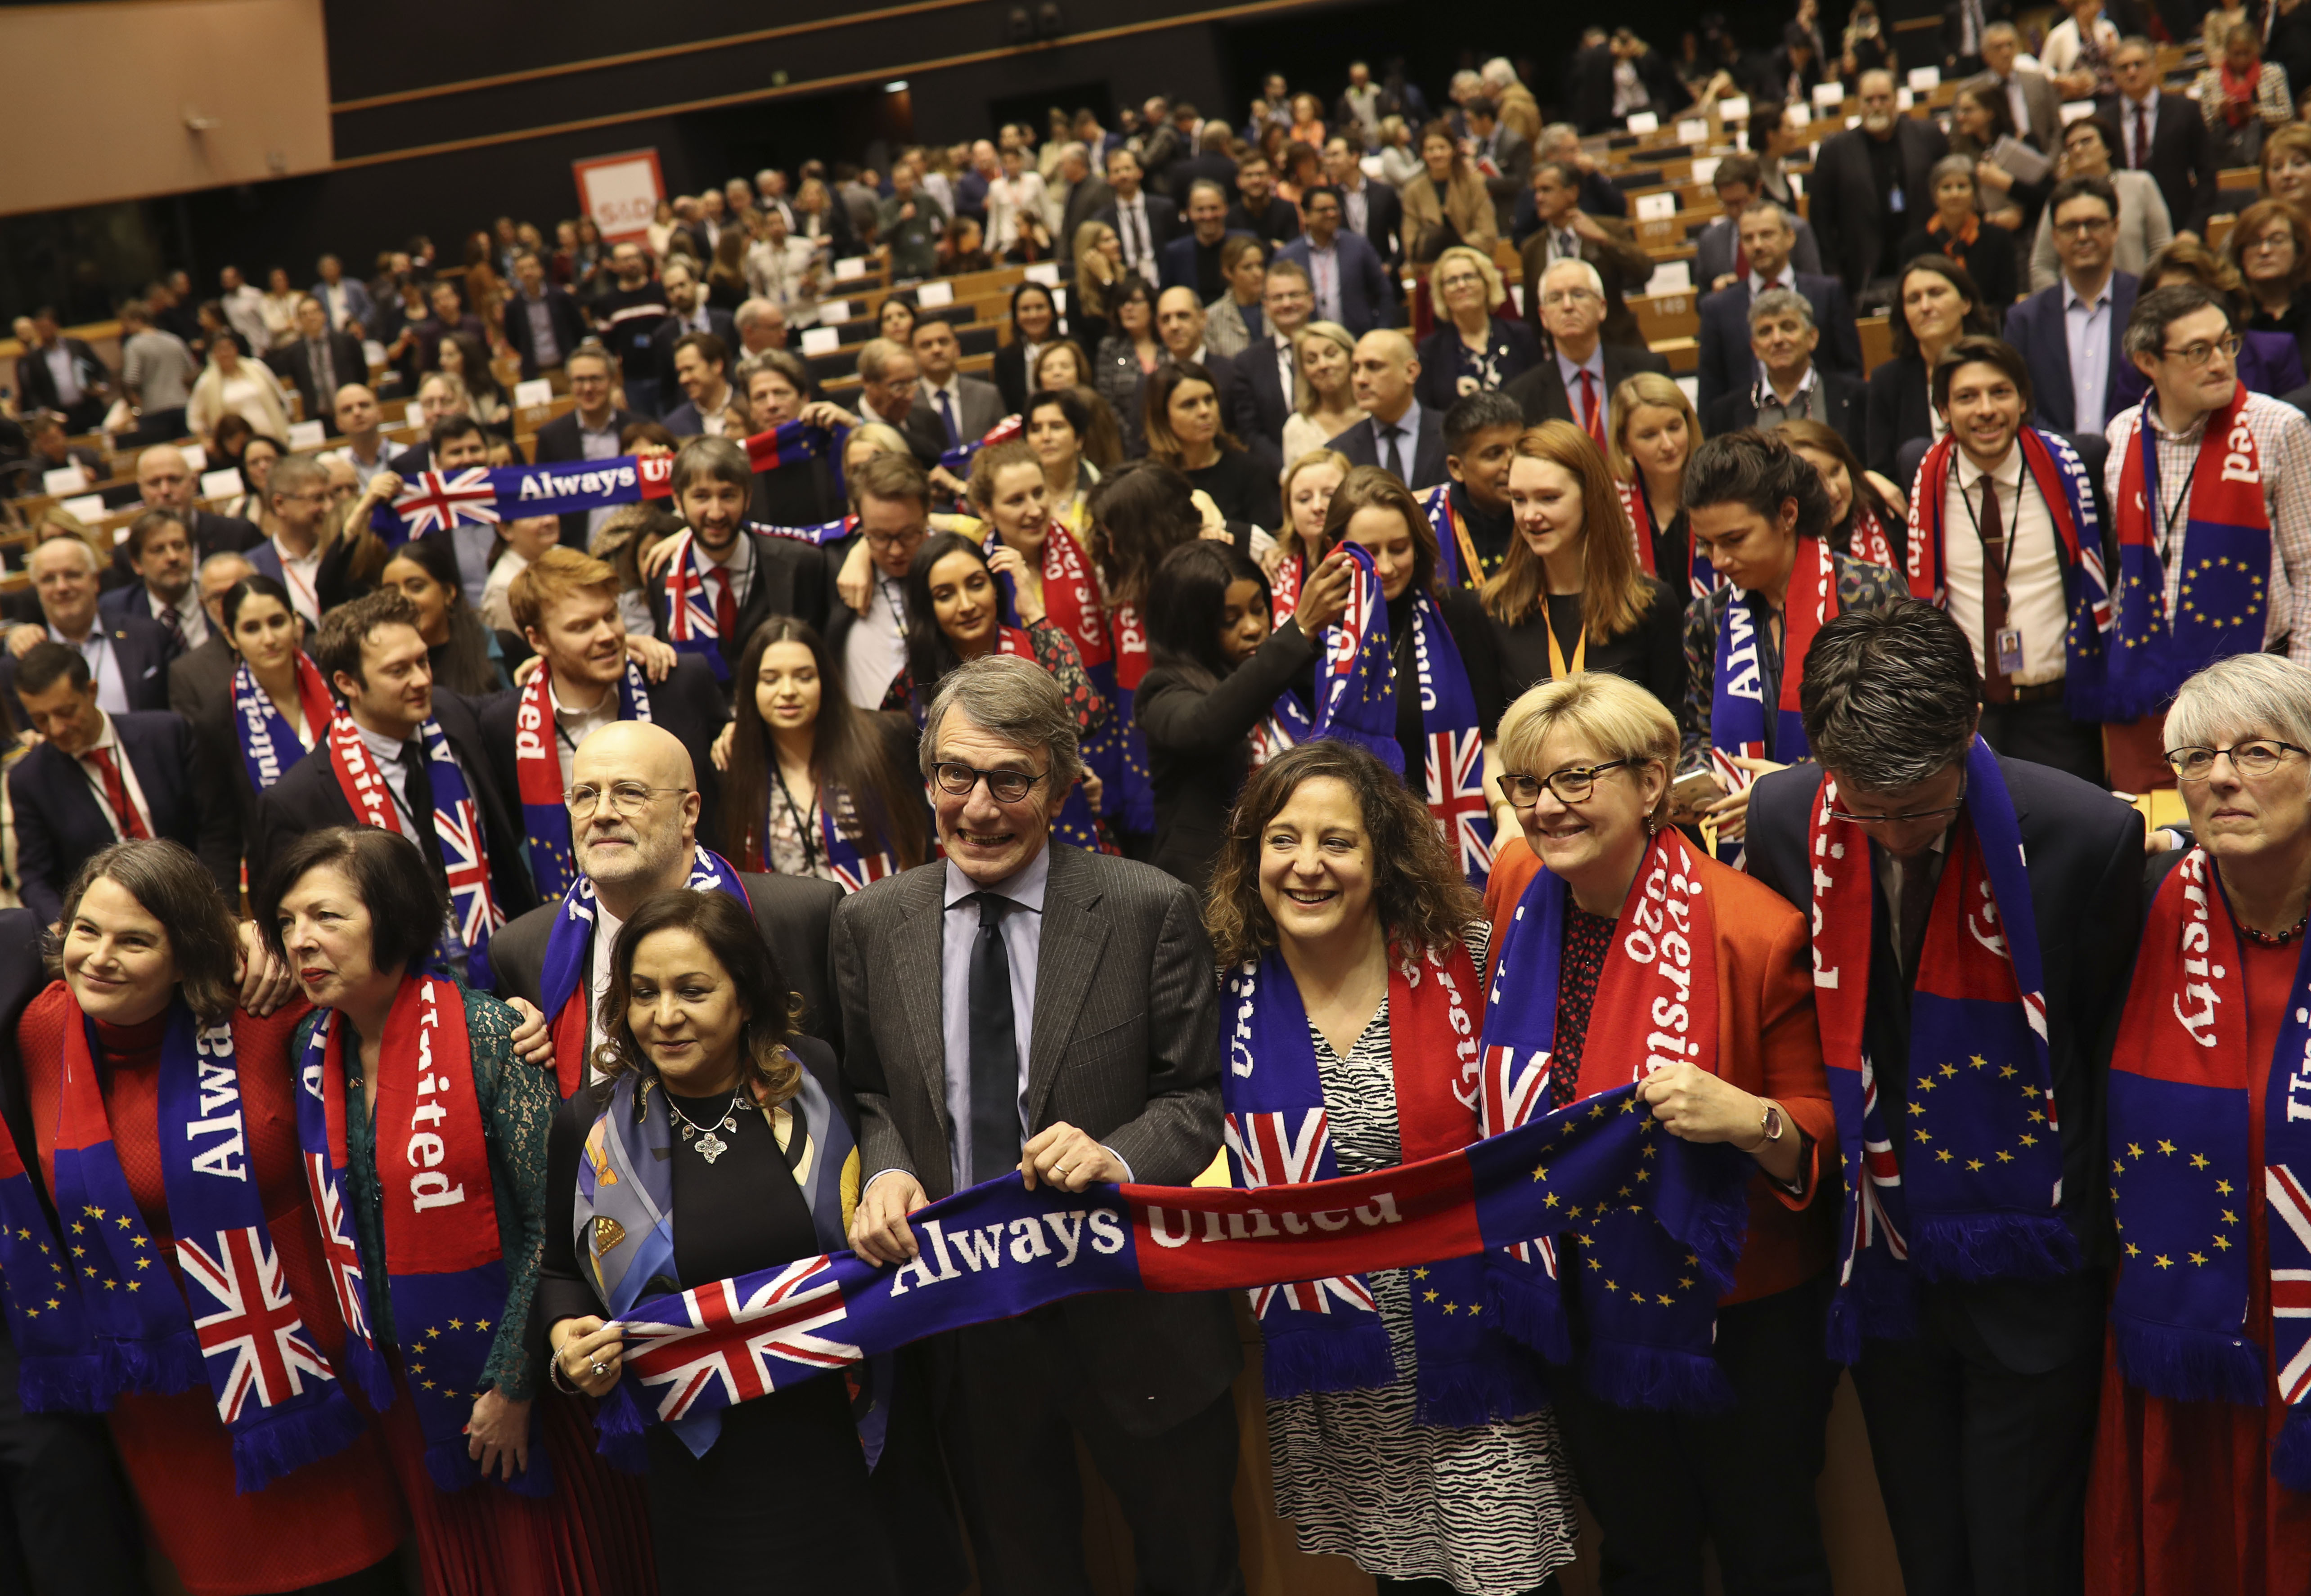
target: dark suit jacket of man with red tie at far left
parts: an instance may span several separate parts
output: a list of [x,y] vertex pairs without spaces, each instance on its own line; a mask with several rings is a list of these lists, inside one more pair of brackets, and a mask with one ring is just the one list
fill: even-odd
[[[153,811],[153,834],[201,855],[217,875],[217,889],[238,894],[238,871],[217,871],[226,855],[238,855],[233,811],[203,797],[217,788],[192,728],[164,709],[113,716],[113,730]],[[16,762],[7,774],[7,795],[16,806],[18,892],[25,908],[51,924],[79,868],[118,841],[113,822],[79,760],[58,753],[51,741],[35,744]]]

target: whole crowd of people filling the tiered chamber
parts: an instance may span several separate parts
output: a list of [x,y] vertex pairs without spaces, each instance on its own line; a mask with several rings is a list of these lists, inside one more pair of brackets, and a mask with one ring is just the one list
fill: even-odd
[[[1849,1367],[1914,1596],[2304,1589],[2295,9],[2209,18],[2191,104],[2103,0],[2038,67],[1985,2],[1944,129],[1863,0],[1810,169],[1812,0],[1786,83],[1699,83],[1752,92],[1699,400],[1509,62],[1440,115],[1357,67],[1243,136],[1151,99],[763,173],[615,249],[508,219],[460,277],[226,273],[176,333],[162,284],[120,372],[37,316],[37,453],[113,393],[153,441],[0,644],[0,1568],[1040,1596],[1088,1589],[1082,1441],[1139,1584],[1223,1596],[1225,1298],[848,1363],[811,1270],[945,1277],[915,1215],[989,1180],[1368,1176],[1634,1083],[1740,1159],[1726,1270],[1643,1208],[1662,1162],[1486,1270],[1253,1293],[1306,1550],[1523,1596],[1585,1501],[1606,1591],[1712,1552],[1826,1596]],[[1608,122],[1694,92],[1602,46]],[[1063,282],[987,379],[887,296],[834,400],[786,340],[862,247]],[[571,395],[534,462],[670,455],[670,497],[395,534],[518,457],[506,353]],[[746,443],[786,427],[823,446]],[[1021,1224],[954,1256],[1047,1256]],[[730,1282],[781,1263],[763,1358],[844,1374],[700,1365],[726,1409],[619,1432],[624,1319],[772,1312]]]

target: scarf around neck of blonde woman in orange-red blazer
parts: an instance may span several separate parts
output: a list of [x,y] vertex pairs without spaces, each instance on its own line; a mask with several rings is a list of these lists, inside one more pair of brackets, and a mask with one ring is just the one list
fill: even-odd
[[[1500,1134],[1548,1106],[1548,1076],[1558,1044],[1558,986],[1565,961],[1565,880],[1541,868],[1516,903],[1500,942],[1500,963],[1484,1014],[1484,1120]],[[1565,1113],[1606,1113],[1611,1092],[1627,1090],[1675,1062],[1717,1074],[1717,935],[1701,864],[1675,827],[1655,834],[1636,866],[1636,885],[1613,924],[1588,1035],[1574,1106]],[[1724,1409],[1724,1372],[1710,1353],[1717,1340],[1717,1298],[1733,1284],[1747,1215],[1733,1217],[1719,1247],[1696,1247],[1689,1229],[1643,1203],[1659,1178],[1652,1159],[1673,1136],[1655,1134],[1652,1116],[1632,1097],[1625,1113],[1645,1120],[1641,1164],[1618,1201],[1576,1203],[1567,1220],[1574,1245],[1551,1259],[1546,1277],[1528,1277],[1509,1298],[1518,1335],[1569,1358],[1558,1268],[1571,1287],[1588,1328],[1588,1384],[1606,1402],[1643,1409]],[[1731,1153],[1731,1148],[1726,1148]],[[1736,1157],[1754,1171],[1754,1162]],[[1664,1229],[1666,1226],[1666,1229]]]

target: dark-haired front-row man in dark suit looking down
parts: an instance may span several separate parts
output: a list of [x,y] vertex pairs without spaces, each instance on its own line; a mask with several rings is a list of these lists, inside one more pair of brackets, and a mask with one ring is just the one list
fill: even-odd
[[[1837,783],[1842,811],[1867,818],[1874,910],[1863,1056],[1904,1164],[1925,1148],[1925,1132],[1904,1134],[1904,1120],[1925,1109],[1914,1081],[1927,1067],[1918,1060],[1911,1069],[1911,991],[1927,905],[1955,887],[1944,850],[1964,834],[1955,820],[1981,702],[1974,647],[1941,610],[1904,601],[1837,617],[1805,661],[1805,734],[1819,765],[1763,776],[1749,799],[1749,875],[1810,915],[1823,912],[1810,848],[1823,776]],[[2022,827],[2038,922],[2052,1097],[2061,1104],[2061,1220],[2082,1268],[2036,1280],[1916,1280],[1916,1335],[1863,1342],[1853,1384],[1902,1582],[1918,1596],[2082,1587],[2103,1277],[2115,1254],[2105,1079],[2115,1002],[2142,919],[2142,820],[2110,792],[2043,765],[1999,758],[1999,774]],[[1937,1102],[1934,1111],[1948,1106]],[[1937,1120],[1937,1134],[1948,1139],[1948,1125]],[[1902,1268],[1918,1275],[1916,1263]]]

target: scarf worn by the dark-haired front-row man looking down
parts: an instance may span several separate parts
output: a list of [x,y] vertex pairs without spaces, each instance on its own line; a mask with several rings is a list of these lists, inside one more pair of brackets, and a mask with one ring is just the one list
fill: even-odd
[[1925,1280],[2013,1280],[2078,1268],[2061,1217],[2061,1134],[2045,1035],[2045,975],[2022,829],[1981,737],[1964,811],[1925,922],[1909,1000],[1907,1141],[1886,1125],[1865,1042],[1872,919],[1870,836],[1835,820],[1823,778],[1812,822],[1814,1007],[1837,1109],[1846,1194],[1830,1353],[1911,1326],[1911,1263]]

